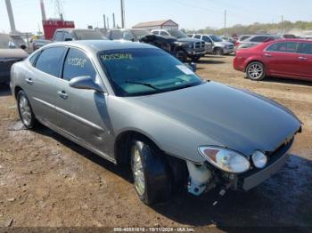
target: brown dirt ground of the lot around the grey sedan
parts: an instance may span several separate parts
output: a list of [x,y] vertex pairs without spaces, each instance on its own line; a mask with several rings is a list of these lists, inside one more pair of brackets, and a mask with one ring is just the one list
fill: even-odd
[[[15,101],[0,88],[0,226],[12,227],[312,227],[312,83],[268,78],[252,82],[233,57],[207,56],[198,73],[276,100],[300,117],[304,131],[280,173],[249,193],[180,194],[148,207],[128,171],[41,127],[23,130]],[[252,111],[252,106],[250,106]],[[226,230],[228,231],[228,230]]]

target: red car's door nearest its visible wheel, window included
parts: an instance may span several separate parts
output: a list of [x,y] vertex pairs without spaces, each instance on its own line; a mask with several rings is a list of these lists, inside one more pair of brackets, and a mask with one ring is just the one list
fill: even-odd
[[263,59],[271,75],[300,76],[297,42],[271,44],[263,53]]

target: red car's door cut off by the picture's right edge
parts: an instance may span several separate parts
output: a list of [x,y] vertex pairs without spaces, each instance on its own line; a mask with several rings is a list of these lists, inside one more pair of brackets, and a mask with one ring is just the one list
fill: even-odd
[[298,60],[302,77],[312,78],[312,43],[300,43]]

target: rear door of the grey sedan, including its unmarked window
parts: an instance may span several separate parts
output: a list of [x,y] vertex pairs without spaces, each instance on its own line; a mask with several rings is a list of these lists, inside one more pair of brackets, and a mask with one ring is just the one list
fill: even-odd
[[25,82],[35,115],[48,124],[56,124],[55,81],[61,76],[61,66],[67,48],[58,46],[43,50],[36,63],[29,67]]

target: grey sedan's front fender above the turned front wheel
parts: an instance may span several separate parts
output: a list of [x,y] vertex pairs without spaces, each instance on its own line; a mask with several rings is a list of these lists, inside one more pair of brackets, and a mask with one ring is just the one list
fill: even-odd
[[168,155],[195,164],[205,161],[198,152],[199,146],[223,146],[188,125],[128,99],[111,96],[108,100],[116,137],[126,131],[142,133]]

